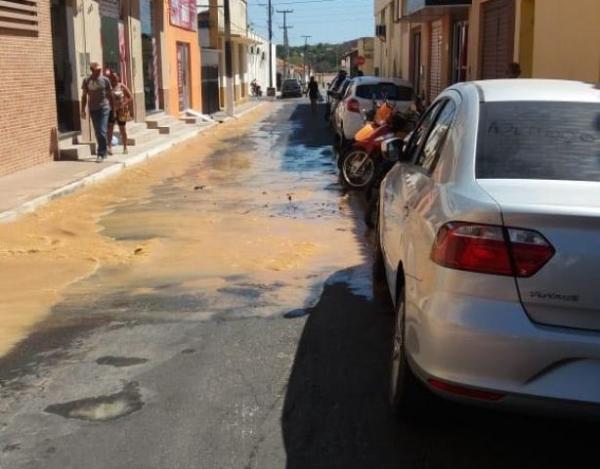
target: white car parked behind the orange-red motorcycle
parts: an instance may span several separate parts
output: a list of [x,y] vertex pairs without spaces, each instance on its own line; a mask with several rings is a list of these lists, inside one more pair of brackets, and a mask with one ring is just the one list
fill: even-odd
[[335,110],[334,124],[340,143],[353,140],[363,126],[361,112],[373,109],[373,99],[387,99],[397,111],[406,111],[413,104],[413,87],[398,78],[356,77]]

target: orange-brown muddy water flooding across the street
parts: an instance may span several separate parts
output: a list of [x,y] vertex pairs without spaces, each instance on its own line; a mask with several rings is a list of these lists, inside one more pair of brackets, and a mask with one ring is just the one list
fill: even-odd
[[289,108],[269,103],[0,225],[0,354],[67,292],[115,315],[270,316],[363,264],[329,150],[294,138],[300,122],[277,112]]

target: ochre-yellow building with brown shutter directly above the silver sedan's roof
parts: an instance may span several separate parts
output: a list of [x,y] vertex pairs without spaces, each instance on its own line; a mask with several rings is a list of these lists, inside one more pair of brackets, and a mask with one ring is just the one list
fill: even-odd
[[473,0],[469,79],[506,77],[600,82],[600,1]]

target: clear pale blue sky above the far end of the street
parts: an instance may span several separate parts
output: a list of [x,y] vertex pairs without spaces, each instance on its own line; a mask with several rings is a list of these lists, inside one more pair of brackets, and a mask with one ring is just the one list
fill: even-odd
[[[247,0],[252,29],[268,37],[267,0]],[[287,15],[290,45],[343,42],[373,36],[373,0],[272,0],[276,10],[294,10]],[[283,15],[273,15],[273,41],[283,44]]]

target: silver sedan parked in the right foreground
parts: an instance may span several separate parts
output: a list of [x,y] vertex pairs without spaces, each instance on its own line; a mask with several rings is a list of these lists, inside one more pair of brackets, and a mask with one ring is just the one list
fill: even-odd
[[398,414],[424,388],[600,412],[599,110],[592,84],[493,80],[422,117],[377,218]]

